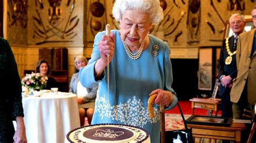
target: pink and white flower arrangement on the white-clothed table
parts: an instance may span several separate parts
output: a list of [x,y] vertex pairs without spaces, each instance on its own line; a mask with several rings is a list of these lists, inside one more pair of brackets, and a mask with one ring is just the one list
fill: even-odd
[[43,89],[46,87],[47,80],[45,77],[41,76],[39,73],[26,74],[22,78],[22,85],[29,89]]

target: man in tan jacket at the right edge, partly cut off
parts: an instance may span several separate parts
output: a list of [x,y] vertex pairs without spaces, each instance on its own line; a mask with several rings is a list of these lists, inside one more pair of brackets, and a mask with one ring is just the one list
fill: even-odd
[[[256,26],[256,5],[252,10],[254,27]],[[255,116],[256,103],[256,28],[242,33],[238,38],[237,47],[237,78],[233,80],[231,101],[233,102],[233,116],[241,119],[244,109],[252,111]],[[250,103],[250,104],[249,104]]]

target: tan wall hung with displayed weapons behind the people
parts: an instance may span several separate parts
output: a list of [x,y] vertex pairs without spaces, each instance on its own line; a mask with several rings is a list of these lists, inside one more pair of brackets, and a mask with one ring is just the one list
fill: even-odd
[[[119,28],[112,18],[114,1],[24,1],[4,0],[5,37],[14,51],[19,73],[35,69],[39,48],[66,47],[69,49],[69,76],[74,72],[73,59],[78,54],[90,58],[95,34],[104,30],[105,24]],[[167,41],[171,58],[197,59],[200,47],[220,46],[225,22],[232,13],[251,15],[252,1],[239,1],[231,5],[229,0],[164,1],[164,20],[153,27],[151,33]],[[20,22],[14,9],[22,6]],[[233,7],[232,7],[233,6]],[[244,9],[245,8],[245,9]],[[24,15],[26,13],[26,15]],[[8,16],[10,15],[10,16]],[[11,23],[10,23],[11,22]],[[214,32],[209,23],[214,26]],[[17,32],[18,31],[18,32]]]

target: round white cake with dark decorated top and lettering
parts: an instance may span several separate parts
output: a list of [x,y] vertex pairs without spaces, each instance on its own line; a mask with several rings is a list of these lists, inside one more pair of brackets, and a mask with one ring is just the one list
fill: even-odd
[[118,124],[96,124],[76,128],[66,135],[70,142],[150,142],[143,128]]

